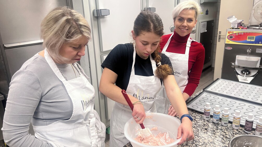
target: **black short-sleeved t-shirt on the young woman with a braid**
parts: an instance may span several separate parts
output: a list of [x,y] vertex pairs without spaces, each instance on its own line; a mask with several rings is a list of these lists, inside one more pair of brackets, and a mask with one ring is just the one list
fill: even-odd
[[[132,43],[118,44],[108,54],[105,61],[101,65],[102,68],[106,67],[118,75],[116,85],[124,90],[127,90],[129,78],[131,75],[133,52],[134,47]],[[161,54],[161,64],[168,64],[170,67],[172,67],[171,61],[165,54]],[[135,75],[146,77],[154,75],[149,57],[147,59],[143,59],[136,54],[134,68]],[[172,75],[174,75],[174,73],[172,73]]]

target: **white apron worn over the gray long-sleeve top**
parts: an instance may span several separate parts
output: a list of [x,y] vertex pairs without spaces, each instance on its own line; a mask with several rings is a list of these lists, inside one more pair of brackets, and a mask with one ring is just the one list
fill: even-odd
[[[61,80],[73,103],[69,120],[59,120],[47,126],[33,126],[35,137],[55,147],[105,146],[105,125],[94,110],[95,89],[79,66],[80,77],[66,81],[45,49],[45,58],[53,72]],[[74,63],[77,67],[77,64]],[[81,71],[81,72],[80,72]]]

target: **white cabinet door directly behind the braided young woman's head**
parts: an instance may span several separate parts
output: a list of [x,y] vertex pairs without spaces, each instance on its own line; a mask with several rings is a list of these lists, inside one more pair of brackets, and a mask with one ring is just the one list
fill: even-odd
[[99,0],[99,8],[109,9],[110,15],[100,17],[101,51],[111,50],[117,44],[129,43],[134,20],[141,11],[140,1]]

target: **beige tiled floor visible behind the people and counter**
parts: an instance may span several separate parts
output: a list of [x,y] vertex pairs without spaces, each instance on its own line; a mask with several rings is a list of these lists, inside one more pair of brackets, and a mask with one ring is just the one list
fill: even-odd
[[[208,86],[210,83],[213,82],[214,79],[214,71],[211,71],[209,73],[207,73],[206,75],[204,75],[203,77],[200,78],[199,84],[196,87],[195,92],[193,93],[193,95],[195,95],[196,93],[198,93],[201,89],[205,88],[206,86]],[[105,144],[105,147],[110,147],[109,145],[109,141],[108,140]]]

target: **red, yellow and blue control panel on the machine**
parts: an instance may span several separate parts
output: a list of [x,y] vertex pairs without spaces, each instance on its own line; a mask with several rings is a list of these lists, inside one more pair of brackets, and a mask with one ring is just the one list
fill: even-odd
[[[249,31],[249,30],[247,30]],[[262,46],[262,32],[227,31],[225,44]]]

